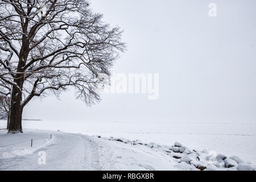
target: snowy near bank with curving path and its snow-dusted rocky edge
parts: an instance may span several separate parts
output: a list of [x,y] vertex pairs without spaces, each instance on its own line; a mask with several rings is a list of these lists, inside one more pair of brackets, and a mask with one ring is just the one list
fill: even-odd
[[[57,131],[24,130],[23,134],[15,135],[6,132],[0,131],[0,171],[256,169],[237,156],[215,156],[215,153],[195,150],[178,142],[166,146]],[[35,140],[32,147],[31,139]],[[40,164],[43,157],[40,154],[46,157],[46,164]]]

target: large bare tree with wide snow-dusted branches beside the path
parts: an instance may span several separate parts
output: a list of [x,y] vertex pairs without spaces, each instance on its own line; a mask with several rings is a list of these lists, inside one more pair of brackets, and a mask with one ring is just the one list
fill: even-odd
[[102,22],[86,0],[0,0],[0,94],[11,97],[9,133],[22,133],[24,106],[73,86],[86,104],[100,99],[125,49],[122,31]]

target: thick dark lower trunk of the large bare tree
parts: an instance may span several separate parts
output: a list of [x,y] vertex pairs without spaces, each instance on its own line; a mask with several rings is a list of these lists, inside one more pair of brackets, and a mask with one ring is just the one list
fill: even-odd
[[10,123],[8,133],[23,133],[22,131],[22,112],[23,107],[20,104],[22,96],[13,89],[11,94],[11,109],[10,109]]

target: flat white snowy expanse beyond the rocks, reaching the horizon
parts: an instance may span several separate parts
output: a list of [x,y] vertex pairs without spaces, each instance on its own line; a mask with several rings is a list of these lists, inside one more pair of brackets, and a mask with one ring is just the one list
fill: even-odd
[[[0,121],[1,128],[5,123]],[[23,128],[125,138],[168,146],[177,141],[190,148],[236,155],[256,164],[254,123],[23,121]]]

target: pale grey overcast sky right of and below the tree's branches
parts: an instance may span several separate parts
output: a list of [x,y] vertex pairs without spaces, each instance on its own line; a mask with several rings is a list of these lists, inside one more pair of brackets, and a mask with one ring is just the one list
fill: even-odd
[[[216,3],[217,17],[209,16]],[[87,107],[74,92],[35,99],[23,118],[82,121],[256,121],[256,1],[93,0],[125,32],[117,73],[159,73],[159,98],[103,94]]]

